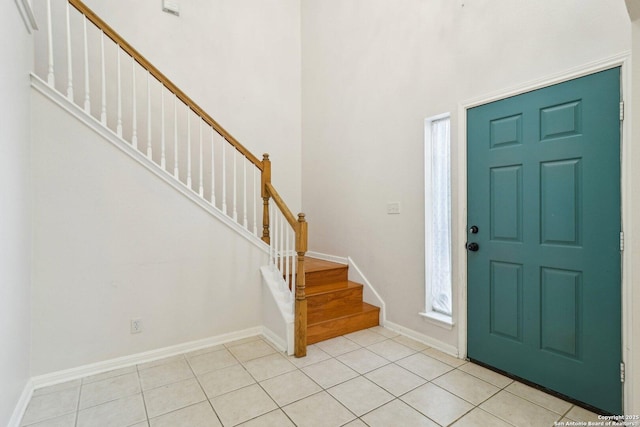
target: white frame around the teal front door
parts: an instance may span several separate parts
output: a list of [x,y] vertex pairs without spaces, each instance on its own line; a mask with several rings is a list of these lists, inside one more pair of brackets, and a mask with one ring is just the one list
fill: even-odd
[[[622,91],[622,99],[625,102],[625,109],[629,109],[631,104],[631,53],[624,52],[622,54],[586,64],[581,67],[570,69],[563,73],[554,74],[544,77],[533,82],[528,82],[510,89],[505,89],[492,94],[487,94],[478,98],[470,99],[458,104],[458,144],[452,146],[452,151],[456,150],[457,162],[454,173],[458,177],[456,186],[457,198],[452,199],[455,203],[452,218],[452,224],[455,231],[452,233],[453,244],[453,284],[457,290],[457,313],[456,323],[458,325],[458,355],[461,358],[467,357],[467,251],[464,247],[467,239],[467,110],[479,105],[488,104],[504,98],[520,95],[525,92],[573,80],[589,74],[604,71],[610,68],[621,68],[620,87]],[[621,132],[621,211],[622,211],[622,227],[628,238],[629,225],[633,223],[633,217],[630,203],[632,193],[632,177],[630,174],[631,166],[634,160],[629,155],[629,145],[631,141],[631,120],[630,114],[626,114],[627,119],[622,122]],[[452,153],[453,154],[453,153]],[[453,155],[452,155],[452,158]],[[636,163],[637,164],[637,163]],[[622,360],[625,362],[628,377],[624,384],[623,408],[632,408],[633,396],[631,384],[633,383],[635,371],[630,366],[630,353],[633,348],[631,325],[633,320],[633,292],[632,277],[630,267],[633,265],[631,260],[631,251],[622,253]],[[457,267],[456,267],[457,266]],[[637,305],[637,304],[636,304]],[[638,308],[638,307],[636,307]],[[636,344],[638,345],[638,344]],[[626,412],[626,411],[625,411]]]

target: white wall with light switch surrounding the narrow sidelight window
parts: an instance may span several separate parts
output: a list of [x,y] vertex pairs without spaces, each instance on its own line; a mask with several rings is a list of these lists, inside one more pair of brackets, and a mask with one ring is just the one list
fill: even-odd
[[[302,0],[310,247],[352,257],[386,301],[389,321],[457,345],[457,327],[418,316],[424,119],[451,112],[456,165],[465,143],[460,103],[629,49],[622,0]],[[466,215],[459,172],[454,166],[454,220]],[[386,214],[389,201],[401,203],[400,215]],[[463,245],[464,230],[453,238]]]

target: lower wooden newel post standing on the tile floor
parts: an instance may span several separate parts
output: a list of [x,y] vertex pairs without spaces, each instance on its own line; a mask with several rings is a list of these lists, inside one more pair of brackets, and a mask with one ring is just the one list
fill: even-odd
[[307,252],[307,221],[303,213],[298,214],[296,233],[297,274],[295,305],[295,343],[296,357],[307,355],[307,296],[305,295],[304,255]]

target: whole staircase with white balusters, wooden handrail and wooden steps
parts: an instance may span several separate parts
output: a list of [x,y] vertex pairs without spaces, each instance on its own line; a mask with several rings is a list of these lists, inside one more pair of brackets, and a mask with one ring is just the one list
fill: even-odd
[[268,154],[252,154],[81,0],[38,6],[34,88],[268,252],[288,351],[378,325],[347,265],[305,257],[305,215],[276,191]]

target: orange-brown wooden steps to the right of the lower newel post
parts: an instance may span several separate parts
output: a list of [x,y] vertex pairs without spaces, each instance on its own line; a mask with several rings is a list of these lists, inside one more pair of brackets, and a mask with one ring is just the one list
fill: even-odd
[[306,258],[307,344],[378,325],[380,308],[362,301],[363,285],[348,279],[349,266]]

